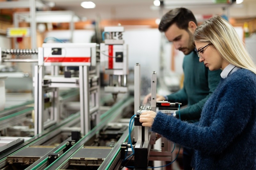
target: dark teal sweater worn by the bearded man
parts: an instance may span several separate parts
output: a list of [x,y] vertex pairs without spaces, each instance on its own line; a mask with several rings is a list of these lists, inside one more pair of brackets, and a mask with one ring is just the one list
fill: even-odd
[[181,120],[198,122],[204,103],[220,82],[221,70],[210,71],[199,62],[193,50],[183,60],[184,83],[178,92],[167,95],[168,101],[188,107],[180,110]]

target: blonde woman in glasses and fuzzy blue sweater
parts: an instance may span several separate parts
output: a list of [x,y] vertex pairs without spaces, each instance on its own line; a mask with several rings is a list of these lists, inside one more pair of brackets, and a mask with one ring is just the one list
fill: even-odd
[[222,69],[199,123],[152,111],[142,113],[140,122],[195,149],[194,169],[256,169],[256,66],[233,26],[219,16],[199,26],[193,41],[200,62]]

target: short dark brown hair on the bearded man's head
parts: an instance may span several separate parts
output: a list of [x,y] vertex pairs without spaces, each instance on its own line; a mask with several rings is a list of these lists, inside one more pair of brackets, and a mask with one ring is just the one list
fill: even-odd
[[197,25],[196,18],[190,10],[175,8],[164,14],[158,29],[160,32],[165,32],[172,24],[176,23],[178,28],[188,30],[189,21],[194,21]]

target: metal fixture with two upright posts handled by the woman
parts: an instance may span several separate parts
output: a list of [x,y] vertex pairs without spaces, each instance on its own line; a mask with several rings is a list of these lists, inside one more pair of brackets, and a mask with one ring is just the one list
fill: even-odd
[[[148,168],[149,160],[160,160],[165,162],[172,161],[172,142],[168,141],[164,137],[161,137],[162,149],[152,149],[152,146],[156,144],[156,134],[154,132],[150,132],[149,127],[142,126],[142,123],[139,121],[140,114],[145,111],[152,110],[157,112],[158,110],[161,110],[162,113],[172,115],[173,112],[178,110],[181,105],[181,103],[178,102],[170,103],[168,101],[156,101],[156,84],[156,72],[153,71],[151,75],[150,106],[140,105],[140,64],[137,63],[134,66],[134,137],[131,141],[131,145],[125,143],[121,146],[123,166],[146,170]],[[129,148],[129,146],[132,148]],[[127,161],[127,158],[132,154],[134,154],[134,157]]]

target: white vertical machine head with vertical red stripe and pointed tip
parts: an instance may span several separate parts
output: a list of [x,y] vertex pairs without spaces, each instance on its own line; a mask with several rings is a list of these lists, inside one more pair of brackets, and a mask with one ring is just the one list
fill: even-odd
[[123,32],[123,26],[104,27],[103,37],[106,35],[106,39],[100,44],[100,63],[109,75],[104,91],[112,93],[114,101],[118,93],[128,92],[128,46],[124,44]]

